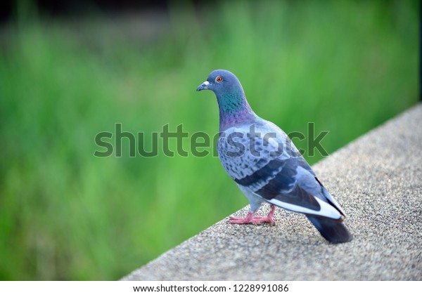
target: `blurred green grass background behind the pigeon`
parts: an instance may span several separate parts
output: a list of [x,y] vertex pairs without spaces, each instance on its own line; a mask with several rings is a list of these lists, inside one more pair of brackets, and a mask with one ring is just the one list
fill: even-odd
[[93,155],[115,123],[146,133],[147,150],[165,124],[213,136],[215,96],[195,91],[211,70],[234,72],[287,133],[330,131],[328,153],[415,105],[418,5],[174,4],[145,42],[18,10],[0,47],[0,279],[116,280],[248,204],[212,155],[129,157],[127,140],[122,157]]

